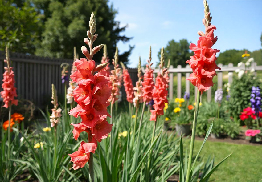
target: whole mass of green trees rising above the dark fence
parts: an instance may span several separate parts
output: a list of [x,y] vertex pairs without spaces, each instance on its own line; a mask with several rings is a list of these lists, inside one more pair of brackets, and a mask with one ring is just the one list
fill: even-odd
[[[95,44],[107,44],[108,56],[113,58],[118,41],[128,42],[131,38],[122,35],[126,26],[115,21],[117,11],[108,1],[1,1],[0,36],[1,50],[10,42],[11,51],[30,53],[56,58],[73,58],[73,47],[82,57],[81,46],[89,30],[91,13],[96,16]],[[121,35],[120,35],[121,34]],[[95,45],[95,46],[96,46]],[[133,47],[119,55],[123,63],[128,62]],[[103,51],[94,59],[99,62]]]

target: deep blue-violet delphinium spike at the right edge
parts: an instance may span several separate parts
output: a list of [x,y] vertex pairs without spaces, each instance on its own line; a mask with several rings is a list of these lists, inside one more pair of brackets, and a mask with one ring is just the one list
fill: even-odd
[[259,87],[252,87],[250,102],[252,110],[255,111],[256,116],[258,117],[259,112],[261,111],[261,95]]

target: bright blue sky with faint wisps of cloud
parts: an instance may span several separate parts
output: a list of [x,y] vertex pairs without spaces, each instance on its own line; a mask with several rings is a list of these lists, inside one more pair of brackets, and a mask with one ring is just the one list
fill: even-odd
[[[171,39],[178,41],[186,38],[196,43],[197,32],[204,31],[202,19],[204,7],[202,0],[109,0],[118,11],[116,20],[121,26],[129,27],[123,33],[133,37],[128,43],[119,42],[120,53],[128,50],[129,44],[135,48],[129,57],[130,67],[137,67],[139,56],[145,63],[152,46],[152,61],[158,62],[158,51]],[[218,41],[214,48],[227,49],[261,49],[262,1],[208,1],[212,21],[216,26],[215,36]],[[186,61],[186,60],[185,60]]]

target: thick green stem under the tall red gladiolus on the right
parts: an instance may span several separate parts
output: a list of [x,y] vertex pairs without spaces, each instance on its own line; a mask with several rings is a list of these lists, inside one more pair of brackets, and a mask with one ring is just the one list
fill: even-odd
[[195,112],[194,112],[193,129],[192,129],[192,135],[191,135],[191,141],[190,141],[189,159],[188,159],[188,166],[187,166],[187,172],[186,172],[186,182],[189,182],[189,180],[191,178],[190,172],[191,172],[192,157],[193,157],[193,151],[194,151],[196,124],[197,124],[197,116],[198,116],[198,110],[199,110],[200,97],[201,97],[201,92],[199,91],[197,93],[196,107],[195,107]]

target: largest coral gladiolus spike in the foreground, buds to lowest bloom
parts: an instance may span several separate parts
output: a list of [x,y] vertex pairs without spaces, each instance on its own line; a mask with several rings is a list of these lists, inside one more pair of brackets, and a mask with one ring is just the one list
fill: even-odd
[[[74,127],[74,139],[77,140],[81,132],[88,133],[88,143],[82,141],[78,151],[68,154],[74,163],[73,169],[75,170],[84,167],[92,157],[92,153],[95,152],[97,142],[107,138],[113,126],[113,124],[108,124],[106,120],[107,116],[111,117],[107,112],[108,99],[112,90],[112,87],[108,87],[109,77],[106,76],[104,65],[101,64],[95,67],[95,61],[92,60],[93,55],[103,47],[103,44],[101,44],[92,48],[92,44],[97,38],[97,34],[94,34],[96,31],[96,19],[93,13],[91,14],[89,27],[90,31],[87,31],[89,39],[84,38],[84,42],[89,46],[90,53],[86,47],[82,46],[82,52],[87,59],[76,59],[74,65],[77,71],[70,76],[72,83],[76,82],[78,86],[73,91],[73,97],[77,102],[77,106],[71,109],[69,114],[74,117],[80,115],[82,119],[78,124],[71,123]],[[93,168],[91,162],[89,163],[89,168]],[[94,174],[90,175],[93,181]]]

